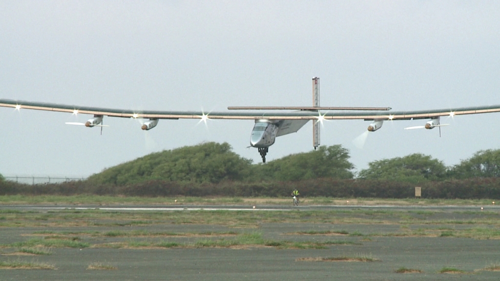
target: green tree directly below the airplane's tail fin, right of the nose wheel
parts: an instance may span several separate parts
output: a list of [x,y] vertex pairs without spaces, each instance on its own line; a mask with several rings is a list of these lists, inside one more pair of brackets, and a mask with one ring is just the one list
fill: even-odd
[[265,164],[254,165],[253,180],[303,180],[322,177],[352,178],[354,165],[341,145],[320,146],[317,150],[297,153]]

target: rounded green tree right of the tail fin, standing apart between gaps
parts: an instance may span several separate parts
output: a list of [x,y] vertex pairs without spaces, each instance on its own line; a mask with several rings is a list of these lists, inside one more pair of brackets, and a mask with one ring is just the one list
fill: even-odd
[[443,180],[445,176],[446,167],[442,161],[420,153],[372,161],[368,163],[367,169],[358,173],[358,177],[363,179],[385,179],[414,183]]

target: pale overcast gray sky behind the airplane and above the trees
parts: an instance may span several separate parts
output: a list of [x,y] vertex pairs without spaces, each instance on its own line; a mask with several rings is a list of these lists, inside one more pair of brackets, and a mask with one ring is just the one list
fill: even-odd
[[[0,97],[87,106],[223,111],[227,106],[394,110],[500,104],[499,1],[1,1]],[[87,176],[153,151],[227,141],[249,145],[253,121],[104,117],[0,108],[0,173]],[[500,114],[442,118],[404,130],[385,122],[362,148],[368,121],[328,121],[321,144],[349,149],[356,169],[424,153],[459,163],[500,148]],[[267,160],[312,149],[311,124],[278,137]]]

